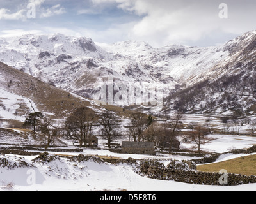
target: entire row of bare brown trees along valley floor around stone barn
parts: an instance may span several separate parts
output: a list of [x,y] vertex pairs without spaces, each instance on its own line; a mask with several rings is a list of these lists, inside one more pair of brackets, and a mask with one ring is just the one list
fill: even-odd
[[[144,113],[132,113],[130,117],[129,132],[130,140],[134,142],[154,142],[161,149],[179,149],[180,142],[178,136],[181,135],[184,123],[182,113],[175,113],[172,117],[156,122],[152,115]],[[253,124],[252,124],[253,125]],[[54,140],[60,136],[67,136],[79,143],[79,147],[90,147],[92,145],[92,136],[95,135],[96,127],[100,127],[100,136],[108,141],[108,147],[111,143],[122,135],[120,127],[122,122],[115,112],[104,111],[96,113],[87,107],[81,107],[74,110],[65,120],[65,124],[60,127],[54,125],[54,121],[45,117],[42,113],[30,113],[24,126],[33,129],[35,133],[39,130],[47,137],[45,149],[51,145]],[[189,124],[189,129],[185,136],[186,142],[195,143],[195,147],[200,151],[201,145],[211,142],[208,137],[211,132],[209,126],[201,124]],[[256,128],[256,122],[255,126]]]

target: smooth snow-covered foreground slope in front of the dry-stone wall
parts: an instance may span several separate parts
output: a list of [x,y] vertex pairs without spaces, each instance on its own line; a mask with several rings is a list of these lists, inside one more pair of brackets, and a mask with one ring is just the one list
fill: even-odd
[[[15,156],[9,156],[17,159]],[[27,163],[36,156],[22,156]],[[222,158],[223,161],[223,158]],[[34,179],[33,178],[34,176]],[[85,162],[67,159],[35,168],[1,169],[0,191],[255,191],[256,184],[241,186],[202,186],[148,179],[136,174],[132,166]],[[4,185],[12,182],[12,189]]]

